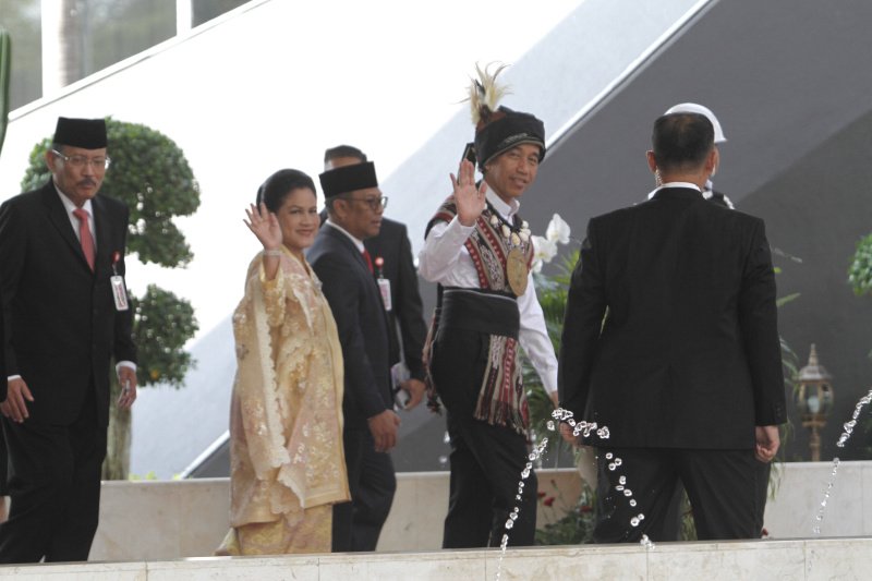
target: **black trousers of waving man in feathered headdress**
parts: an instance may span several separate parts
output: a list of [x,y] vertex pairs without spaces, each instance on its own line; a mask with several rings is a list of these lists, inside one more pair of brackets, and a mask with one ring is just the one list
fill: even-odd
[[[440,327],[433,347],[431,373],[448,410],[451,480],[444,548],[532,545],[536,529],[535,472],[524,481],[526,437],[513,429],[473,419],[487,362],[488,335]],[[520,509],[511,530],[506,521]]]

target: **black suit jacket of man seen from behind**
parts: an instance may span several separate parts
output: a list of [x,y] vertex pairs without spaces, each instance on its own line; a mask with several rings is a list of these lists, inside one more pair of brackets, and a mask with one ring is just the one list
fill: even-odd
[[593,218],[559,376],[564,407],[608,426],[603,444],[753,447],[755,425],[786,420],[763,221],[681,187]]

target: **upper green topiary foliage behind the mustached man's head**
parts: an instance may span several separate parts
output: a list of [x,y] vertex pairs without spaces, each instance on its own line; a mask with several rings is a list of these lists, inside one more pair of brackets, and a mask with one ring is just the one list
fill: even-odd
[[[199,186],[184,153],[169,137],[137,123],[106,120],[109,157],[100,193],[124,202],[130,208],[128,251],[145,264],[185,266],[193,258],[184,235],[173,223],[199,206]],[[47,137],[31,152],[22,191],[48,181],[45,152]]]

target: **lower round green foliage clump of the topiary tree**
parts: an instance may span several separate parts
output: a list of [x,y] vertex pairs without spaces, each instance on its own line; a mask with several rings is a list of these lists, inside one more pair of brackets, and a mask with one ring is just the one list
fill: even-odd
[[142,298],[132,298],[133,340],[138,349],[136,379],[141,386],[157,383],[182,387],[193,365],[184,343],[197,331],[194,307],[184,299],[149,285]]

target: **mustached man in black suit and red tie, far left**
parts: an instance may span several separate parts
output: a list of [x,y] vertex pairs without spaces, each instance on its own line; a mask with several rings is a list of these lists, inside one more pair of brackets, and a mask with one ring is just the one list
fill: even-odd
[[58,120],[52,179],[0,207],[3,354],[0,411],[12,510],[0,562],[87,560],[97,530],[109,422],[109,365],[119,404],[136,397],[136,350],[123,286],[128,208],[97,195],[104,120]]

